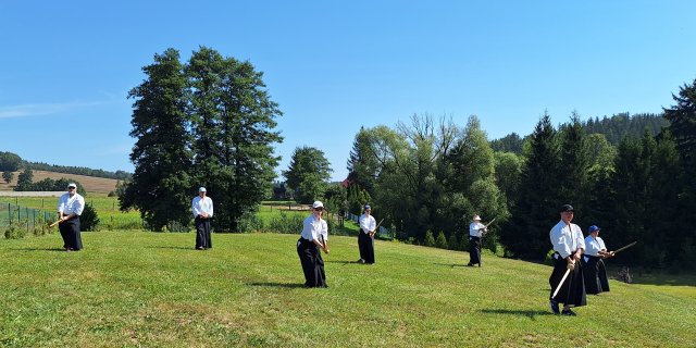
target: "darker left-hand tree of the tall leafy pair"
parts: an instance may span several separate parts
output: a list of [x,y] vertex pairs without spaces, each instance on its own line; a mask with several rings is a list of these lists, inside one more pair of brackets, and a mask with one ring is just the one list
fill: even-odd
[[170,222],[188,225],[191,152],[186,78],[178,51],[154,54],[154,62],[142,71],[147,78],[128,92],[135,99],[130,121],[130,136],[137,138],[130,153],[135,173],[119,196],[120,208],[138,209],[154,231]]

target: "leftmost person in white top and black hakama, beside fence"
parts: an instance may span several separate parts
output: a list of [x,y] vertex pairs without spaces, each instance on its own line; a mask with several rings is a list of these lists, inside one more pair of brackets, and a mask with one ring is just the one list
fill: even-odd
[[77,251],[83,248],[83,239],[79,232],[79,215],[85,209],[85,198],[77,194],[75,183],[67,184],[67,192],[58,200],[58,228],[63,237],[65,251]]

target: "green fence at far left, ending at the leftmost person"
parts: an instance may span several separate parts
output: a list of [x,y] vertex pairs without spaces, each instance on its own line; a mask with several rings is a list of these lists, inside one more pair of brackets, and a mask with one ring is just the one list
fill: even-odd
[[26,233],[46,231],[48,222],[57,219],[54,212],[20,207],[12,203],[0,203],[0,232],[11,228],[26,229]]

